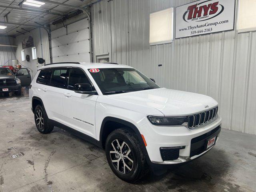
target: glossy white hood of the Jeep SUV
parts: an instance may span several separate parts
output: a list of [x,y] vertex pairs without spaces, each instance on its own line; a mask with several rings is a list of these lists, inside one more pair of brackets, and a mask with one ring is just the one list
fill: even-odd
[[155,108],[165,116],[195,114],[218,105],[216,100],[206,95],[166,88],[115,94],[109,97]]

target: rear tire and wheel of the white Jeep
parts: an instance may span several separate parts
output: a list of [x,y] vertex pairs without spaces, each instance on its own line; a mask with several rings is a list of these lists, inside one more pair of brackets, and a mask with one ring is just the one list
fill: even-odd
[[[40,133],[46,134],[50,133],[54,125],[50,124],[48,121],[47,114],[44,110],[44,107],[41,105],[37,105],[34,110],[34,118],[36,123],[36,128]],[[40,120],[38,118],[41,118]]]

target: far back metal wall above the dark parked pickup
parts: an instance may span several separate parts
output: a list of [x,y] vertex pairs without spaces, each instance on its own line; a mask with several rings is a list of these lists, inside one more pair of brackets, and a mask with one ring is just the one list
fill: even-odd
[[[10,43],[12,45],[15,44],[14,38],[0,36],[0,44],[7,45]],[[13,60],[15,59],[12,49],[15,52],[17,48],[16,47],[11,48],[11,47],[6,47],[6,46],[0,46],[0,66],[3,66],[4,64],[12,65],[12,59]]]

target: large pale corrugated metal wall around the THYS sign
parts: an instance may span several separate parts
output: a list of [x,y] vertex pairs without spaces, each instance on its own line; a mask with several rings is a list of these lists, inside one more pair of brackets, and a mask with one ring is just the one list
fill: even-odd
[[223,128],[256,134],[256,32],[233,30],[149,46],[149,13],[193,1],[94,4],[94,55],[109,52],[112,62],[133,66],[160,86],[209,95],[219,102]]

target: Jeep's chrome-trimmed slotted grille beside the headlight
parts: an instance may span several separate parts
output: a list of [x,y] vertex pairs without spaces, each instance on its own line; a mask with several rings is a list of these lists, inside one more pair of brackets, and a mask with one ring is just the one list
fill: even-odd
[[213,120],[218,113],[218,106],[210,110],[188,116],[188,128],[201,126]]

